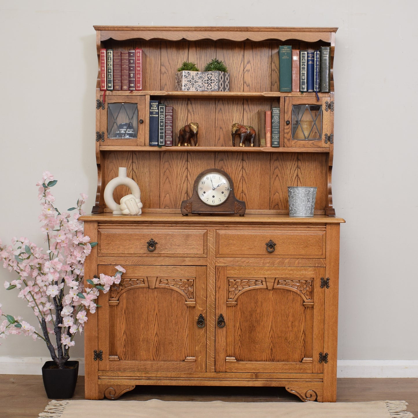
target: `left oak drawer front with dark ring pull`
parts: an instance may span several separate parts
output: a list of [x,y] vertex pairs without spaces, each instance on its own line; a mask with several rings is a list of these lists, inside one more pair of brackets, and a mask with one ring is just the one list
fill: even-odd
[[206,256],[204,229],[100,229],[98,242],[99,256]]

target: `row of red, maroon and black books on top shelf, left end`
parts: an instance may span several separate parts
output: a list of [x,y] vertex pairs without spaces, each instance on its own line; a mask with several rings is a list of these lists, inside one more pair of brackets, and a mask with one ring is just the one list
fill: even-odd
[[142,90],[142,49],[100,49],[100,90]]

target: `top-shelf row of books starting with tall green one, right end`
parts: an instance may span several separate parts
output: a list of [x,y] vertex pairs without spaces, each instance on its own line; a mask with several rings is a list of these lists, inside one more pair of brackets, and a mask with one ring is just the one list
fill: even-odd
[[279,47],[280,92],[321,92],[330,89],[330,47],[316,51]]

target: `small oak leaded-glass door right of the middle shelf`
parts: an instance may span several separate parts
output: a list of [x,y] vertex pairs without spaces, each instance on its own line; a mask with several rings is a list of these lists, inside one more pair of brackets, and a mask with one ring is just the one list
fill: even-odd
[[329,97],[285,98],[285,147],[329,148]]

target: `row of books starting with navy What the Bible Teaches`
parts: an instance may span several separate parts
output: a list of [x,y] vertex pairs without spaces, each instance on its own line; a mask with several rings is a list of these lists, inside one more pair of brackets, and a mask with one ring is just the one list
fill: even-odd
[[171,147],[176,145],[173,131],[174,116],[173,106],[166,106],[158,100],[150,100],[150,146]]

